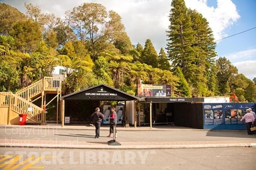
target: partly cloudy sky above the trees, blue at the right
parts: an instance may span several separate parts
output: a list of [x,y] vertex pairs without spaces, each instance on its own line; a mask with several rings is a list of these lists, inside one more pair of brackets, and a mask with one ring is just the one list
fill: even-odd
[[[65,11],[83,3],[100,3],[107,11],[116,11],[122,17],[133,45],[140,42],[144,46],[150,39],[157,53],[166,48],[172,0],[0,0],[24,14],[25,2],[39,6],[44,14],[55,14],[62,19]],[[249,79],[256,77],[256,0],[185,0],[185,3],[209,22],[217,43],[216,59],[226,57],[239,74]]]

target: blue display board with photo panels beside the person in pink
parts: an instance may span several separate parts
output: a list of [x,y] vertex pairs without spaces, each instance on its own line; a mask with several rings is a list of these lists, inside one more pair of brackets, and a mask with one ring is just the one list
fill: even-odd
[[255,103],[204,103],[204,129],[246,129],[241,118],[247,108],[255,112]]

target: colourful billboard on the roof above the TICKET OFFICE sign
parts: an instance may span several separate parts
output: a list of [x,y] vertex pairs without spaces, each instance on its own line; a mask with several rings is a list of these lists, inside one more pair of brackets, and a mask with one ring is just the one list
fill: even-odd
[[170,97],[171,91],[171,85],[138,84],[138,97]]

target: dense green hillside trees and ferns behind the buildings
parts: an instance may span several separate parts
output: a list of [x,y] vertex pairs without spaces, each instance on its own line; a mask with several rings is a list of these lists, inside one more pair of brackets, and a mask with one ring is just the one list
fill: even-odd
[[[172,85],[172,96],[230,96],[256,102],[256,78],[247,79],[225,57],[215,59],[207,20],[172,0],[167,48],[151,40],[132,45],[122,18],[96,3],[66,11],[65,19],[26,4],[26,14],[0,3],[0,91],[18,91],[56,65],[66,68],[64,94],[105,83],[135,95],[144,84]],[[56,60],[56,58],[61,60]],[[67,69],[67,68],[72,68]]]

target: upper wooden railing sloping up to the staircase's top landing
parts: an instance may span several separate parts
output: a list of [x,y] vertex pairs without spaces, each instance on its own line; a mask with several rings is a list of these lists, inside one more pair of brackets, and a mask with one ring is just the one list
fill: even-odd
[[26,88],[17,91],[16,94],[23,99],[29,101],[33,97],[42,93],[42,91],[57,91],[61,90],[61,79],[60,77],[44,77]]

